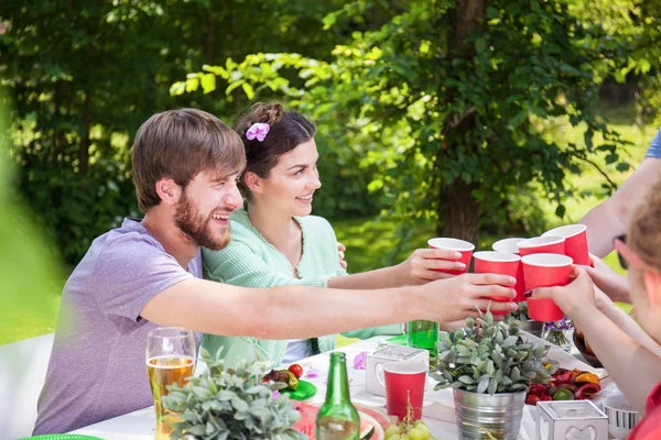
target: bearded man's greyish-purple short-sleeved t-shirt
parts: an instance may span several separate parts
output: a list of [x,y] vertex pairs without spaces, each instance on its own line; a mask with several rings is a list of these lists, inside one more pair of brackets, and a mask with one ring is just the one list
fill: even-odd
[[152,405],[144,350],[158,326],[140,312],[193,277],[202,277],[201,254],[186,272],[139,221],[124,219],[97,238],[64,286],[34,433],[66,432]]

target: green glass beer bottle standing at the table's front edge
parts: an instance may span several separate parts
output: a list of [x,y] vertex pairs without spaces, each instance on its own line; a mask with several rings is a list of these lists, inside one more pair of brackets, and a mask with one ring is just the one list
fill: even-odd
[[349,399],[345,353],[330,353],[326,402],[316,417],[316,440],[359,440],[360,417]]

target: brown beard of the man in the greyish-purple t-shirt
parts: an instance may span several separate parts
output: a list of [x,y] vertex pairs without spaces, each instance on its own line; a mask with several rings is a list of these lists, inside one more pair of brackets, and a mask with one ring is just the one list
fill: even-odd
[[225,228],[223,235],[215,239],[210,232],[210,217],[205,220],[198,215],[197,208],[184,190],[174,213],[174,224],[182,231],[184,239],[189,244],[220,251],[229,244],[229,228]]

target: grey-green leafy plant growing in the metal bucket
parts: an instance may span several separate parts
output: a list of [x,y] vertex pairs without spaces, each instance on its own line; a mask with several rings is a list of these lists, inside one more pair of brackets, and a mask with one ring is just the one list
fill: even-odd
[[532,382],[548,382],[557,370],[554,362],[542,362],[549,345],[525,342],[519,336],[520,321],[495,322],[491,312],[466,329],[441,333],[438,363],[432,376],[435,389],[456,388],[474,393],[517,393]]

